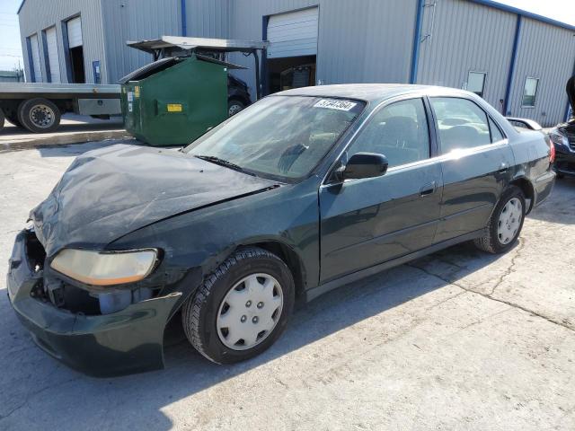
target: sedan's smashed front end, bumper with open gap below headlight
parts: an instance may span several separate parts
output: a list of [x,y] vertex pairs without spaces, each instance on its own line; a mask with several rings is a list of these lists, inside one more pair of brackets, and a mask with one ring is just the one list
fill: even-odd
[[99,377],[163,367],[164,328],[181,299],[171,277],[90,288],[55,273],[45,261],[34,231],[19,233],[9,261],[8,295],[40,348]]

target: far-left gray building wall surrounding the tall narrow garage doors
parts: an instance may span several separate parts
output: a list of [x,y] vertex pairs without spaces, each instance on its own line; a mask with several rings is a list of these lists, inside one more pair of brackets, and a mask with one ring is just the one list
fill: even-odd
[[[102,84],[106,84],[106,56],[102,30],[101,0],[75,0],[75,1],[46,1],[26,0],[19,14],[20,34],[22,37],[22,53],[24,68],[27,79],[30,81],[30,64],[26,38],[33,33],[38,33],[40,44],[40,68],[42,71],[41,81],[47,81],[46,62],[44,60],[44,46],[42,44],[41,31],[56,24],[57,50],[60,63],[60,79],[67,83],[66,59],[62,39],[62,21],[81,13],[82,34],[84,38],[84,70],[86,83],[93,83],[92,62],[100,60],[102,68]],[[37,81],[40,81],[38,77]]]

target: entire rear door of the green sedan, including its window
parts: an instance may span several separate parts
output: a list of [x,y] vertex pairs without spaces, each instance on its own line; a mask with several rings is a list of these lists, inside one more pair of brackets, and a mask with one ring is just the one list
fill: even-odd
[[515,164],[501,129],[474,101],[430,97],[442,154],[443,199],[436,242],[482,229]]

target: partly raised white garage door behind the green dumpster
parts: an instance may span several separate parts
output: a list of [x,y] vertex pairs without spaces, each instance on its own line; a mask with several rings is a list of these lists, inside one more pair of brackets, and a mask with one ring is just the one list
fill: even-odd
[[317,54],[317,18],[317,7],[271,15],[268,22],[268,58]]

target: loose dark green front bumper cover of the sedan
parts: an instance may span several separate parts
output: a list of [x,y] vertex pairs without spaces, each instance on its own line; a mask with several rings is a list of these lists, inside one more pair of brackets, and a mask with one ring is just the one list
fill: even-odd
[[181,293],[133,303],[121,312],[86,316],[31,296],[41,282],[26,253],[26,233],[16,236],[9,260],[10,303],[32,339],[66,365],[97,377],[140,373],[164,366],[164,328]]

